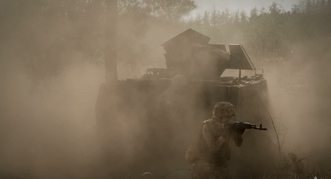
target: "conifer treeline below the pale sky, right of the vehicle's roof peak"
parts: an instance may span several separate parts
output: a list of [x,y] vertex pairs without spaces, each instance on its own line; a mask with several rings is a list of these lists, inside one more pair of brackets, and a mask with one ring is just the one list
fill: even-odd
[[249,13],[213,8],[186,24],[211,37],[213,43],[243,44],[251,59],[261,63],[291,57],[297,43],[330,37],[330,18],[331,0],[307,0],[293,5],[291,11],[275,2]]

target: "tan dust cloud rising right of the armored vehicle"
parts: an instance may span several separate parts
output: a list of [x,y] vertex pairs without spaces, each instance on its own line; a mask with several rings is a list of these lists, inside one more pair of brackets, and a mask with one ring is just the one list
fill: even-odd
[[288,128],[283,152],[314,154],[324,163],[330,161],[329,39],[294,44],[291,56],[264,67],[272,115]]

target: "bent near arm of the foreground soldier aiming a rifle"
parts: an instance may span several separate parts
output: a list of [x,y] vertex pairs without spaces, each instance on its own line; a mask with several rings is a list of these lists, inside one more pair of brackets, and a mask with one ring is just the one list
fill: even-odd
[[206,125],[203,126],[202,134],[208,145],[209,151],[211,151],[212,153],[217,152],[225,142],[225,139],[222,136],[215,139],[213,133]]

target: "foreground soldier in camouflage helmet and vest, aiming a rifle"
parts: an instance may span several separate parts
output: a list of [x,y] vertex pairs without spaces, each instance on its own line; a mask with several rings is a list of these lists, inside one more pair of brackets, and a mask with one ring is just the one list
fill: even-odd
[[213,117],[202,122],[198,139],[186,152],[186,160],[194,163],[193,178],[215,179],[231,178],[230,170],[225,161],[230,159],[232,139],[238,147],[243,142],[245,129],[235,131],[224,127],[235,115],[234,106],[229,102],[220,102],[214,106]]

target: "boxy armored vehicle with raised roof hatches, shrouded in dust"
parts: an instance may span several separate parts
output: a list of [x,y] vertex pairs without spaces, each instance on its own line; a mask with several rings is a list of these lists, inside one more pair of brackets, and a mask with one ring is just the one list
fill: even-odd
[[[116,163],[115,172],[159,168],[162,173],[185,167],[188,141],[220,101],[236,107],[233,121],[260,124],[267,94],[263,70],[255,68],[242,45],[209,44],[210,40],[188,29],[162,44],[166,69],[149,68],[142,78],[101,84],[97,132],[104,151],[112,156],[111,163]],[[236,69],[238,76],[221,76],[225,69]],[[242,77],[242,70],[255,71],[255,75]],[[241,152],[232,152],[232,161],[245,159],[240,163],[251,172],[256,167],[250,163],[264,165],[268,146],[260,143],[260,135],[247,132],[248,142],[237,149]]]

